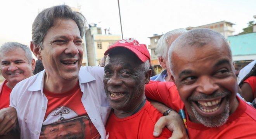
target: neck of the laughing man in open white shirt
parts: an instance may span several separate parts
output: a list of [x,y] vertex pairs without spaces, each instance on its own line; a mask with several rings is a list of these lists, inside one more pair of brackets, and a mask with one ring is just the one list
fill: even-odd
[[52,93],[63,93],[74,88],[78,78],[74,80],[50,80],[45,74],[43,87]]

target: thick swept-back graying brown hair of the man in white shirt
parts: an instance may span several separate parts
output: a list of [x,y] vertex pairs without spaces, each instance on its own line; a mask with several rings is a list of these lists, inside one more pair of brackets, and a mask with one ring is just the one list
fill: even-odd
[[41,43],[43,38],[54,25],[55,19],[72,19],[76,22],[80,31],[80,36],[84,35],[84,27],[86,25],[86,19],[80,12],[73,11],[68,5],[59,5],[47,8],[40,12],[32,25],[32,43],[36,44],[43,49]]

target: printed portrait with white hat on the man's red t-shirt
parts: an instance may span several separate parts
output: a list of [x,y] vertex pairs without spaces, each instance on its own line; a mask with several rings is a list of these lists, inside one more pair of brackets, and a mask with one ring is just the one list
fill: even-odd
[[43,121],[40,139],[99,139],[88,115],[78,116],[67,107],[53,110]]

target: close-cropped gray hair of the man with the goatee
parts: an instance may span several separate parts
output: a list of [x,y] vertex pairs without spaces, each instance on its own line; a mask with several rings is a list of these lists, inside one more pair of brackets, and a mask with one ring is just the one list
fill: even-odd
[[222,39],[223,46],[227,48],[228,56],[232,61],[231,49],[223,35],[211,29],[192,29],[182,34],[171,44],[171,47],[168,51],[168,61],[170,63],[168,68],[170,69],[171,73],[173,74],[173,61],[171,60],[171,56],[174,49],[178,49],[178,47],[187,46],[203,47],[204,45],[212,42],[214,40],[214,37]]

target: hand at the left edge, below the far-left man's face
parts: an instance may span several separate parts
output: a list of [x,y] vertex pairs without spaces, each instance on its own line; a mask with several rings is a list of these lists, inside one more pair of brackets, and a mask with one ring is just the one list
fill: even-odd
[[17,112],[14,107],[0,110],[0,135],[6,135],[17,124]]

